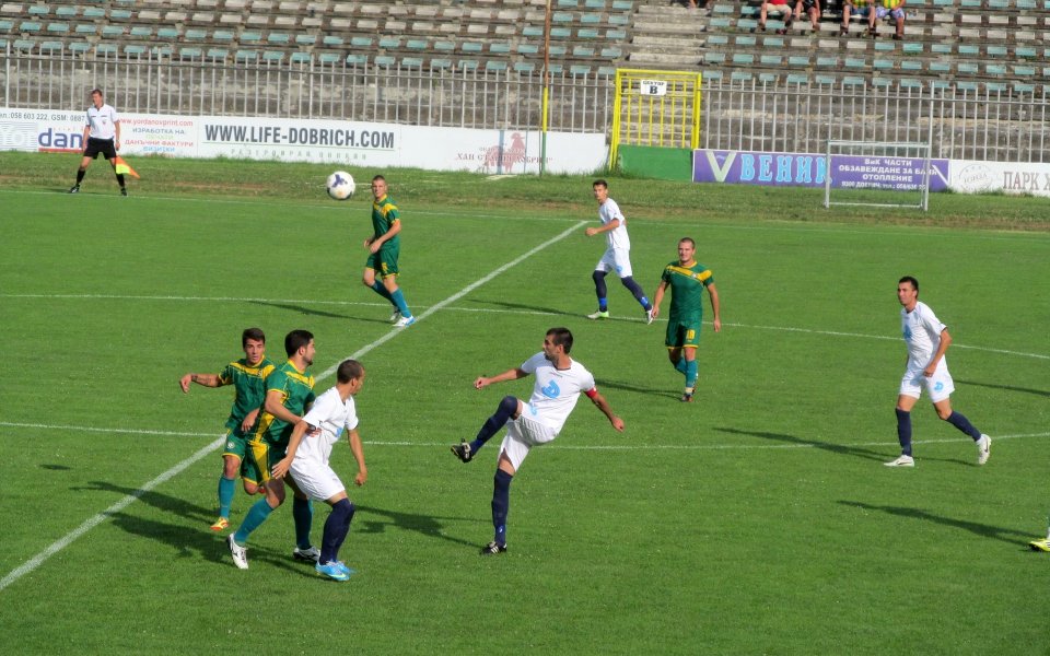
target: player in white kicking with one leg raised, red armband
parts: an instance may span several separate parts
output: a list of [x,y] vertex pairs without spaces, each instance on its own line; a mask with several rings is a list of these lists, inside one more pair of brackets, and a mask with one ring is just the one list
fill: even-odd
[[614,429],[623,431],[623,420],[612,413],[605,397],[598,393],[591,372],[569,356],[571,350],[572,332],[568,328],[551,328],[544,338],[542,352],[533,355],[516,368],[491,378],[481,376],[474,382],[476,389],[482,389],[493,383],[536,375],[533,395],[527,403],[516,397],[503,397],[495,413],[481,425],[474,442],[463,441],[452,447],[452,453],[457,458],[469,462],[478,449],[506,425],[492,490],[492,525],[495,537],[481,548],[482,555],[506,551],[511,480],[533,446],[546,444],[558,436],[569,414],[576,407],[581,393],[587,395],[608,418]]

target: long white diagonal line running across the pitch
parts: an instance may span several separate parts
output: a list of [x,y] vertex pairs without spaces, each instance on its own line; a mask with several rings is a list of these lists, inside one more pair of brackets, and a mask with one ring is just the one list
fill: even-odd
[[[586,222],[584,222],[584,221],[578,222],[578,223],[576,223],[575,225],[573,225],[572,227],[570,227],[570,229],[561,232],[561,233],[558,234],[557,236],[555,236],[555,237],[552,237],[552,238],[544,242],[542,244],[540,244],[539,246],[533,248],[533,249],[529,250],[528,253],[526,253],[526,254],[524,254],[524,255],[522,255],[522,256],[520,256],[520,257],[511,260],[510,262],[508,262],[508,263],[503,265],[502,267],[495,269],[494,271],[492,271],[492,272],[489,273],[488,276],[485,276],[483,278],[481,278],[481,279],[479,279],[479,280],[477,280],[477,281],[468,284],[467,286],[463,288],[462,290],[459,290],[459,291],[456,292],[455,294],[448,296],[447,298],[445,298],[445,300],[442,301],[441,303],[438,303],[438,304],[431,306],[429,309],[427,309],[427,312],[420,314],[420,315],[419,315],[419,318],[417,319],[417,321],[420,321],[420,320],[422,320],[422,319],[425,319],[425,318],[429,317],[431,314],[438,312],[439,309],[445,307],[446,305],[448,305],[448,304],[451,304],[451,303],[455,303],[456,301],[458,301],[458,300],[462,298],[463,296],[465,296],[465,295],[469,294],[471,291],[476,290],[478,286],[480,286],[480,285],[485,284],[486,282],[492,280],[493,278],[495,278],[497,276],[499,276],[499,274],[502,273],[503,271],[506,271],[506,270],[510,269],[511,267],[514,267],[515,265],[518,265],[518,263],[523,262],[524,260],[526,260],[526,259],[528,259],[529,257],[532,257],[533,255],[539,253],[539,251],[542,250],[544,248],[547,248],[548,246],[551,246],[552,244],[557,244],[557,243],[560,242],[561,239],[564,239],[564,238],[568,237],[570,234],[572,234],[574,231],[579,230],[580,227],[582,227],[582,226],[585,225],[585,224],[586,224]],[[359,349],[353,355],[351,355],[351,358],[361,358],[362,355],[364,355],[364,354],[368,353],[369,351],[372,351],[373,349],[375,349],[375,348],[377,348],[377,347],[386,343],[387,341],[394,339],[394,338],[395,338],[398,333],[400,333],[402,330],[410,330],[410,328],[392,328],[388,332],[386,332],[386,333],[385,333],[383,337],[381,337],[380,339],[377,339],[377,340],[373,341],[372,343],[366,344],[366,345],[362,347],[361,349]],[[336,371],[336,368],[337,368],[338,366],[339,366],[338,364],[335,364],[335,365],[330,366],[329,368],[325,370],[322,374],[319,374],[319,375],[316,377],[316,379],[317,379],[317,380],[322,380],[322,379],[324,379],[324,378],[327,378],[327,377],[330,376],[332,373],[335,373],[335,371]],[[0,423],[0,425],[14,426],[15,424]],[[23,427],[25,427],[25,426],[23,426]],[[94,431],[98,431],[98,429],[93,429],[93,430],[94,430]],[[122,430],[122,431],[119,431],[119,432],[131,432],[131,431],[124,431],[124,430]],[[154,433],[154,434],[155,434],[155,433]],[[163,434],[163,433],[161,433],[161,434]],[[182,462],[175,465],[174,467],[172,467],[171,469],[168,469],[167,471],[165,471],[165,472],[162,473],[161,476],[159,476],[159,477],[156,477],[155,479],[153,479],[152,481],[145,483],[144,485],[142,485],[141,488],[139,488],[138,490],[136,490],[136,491],[132,492],[131,494],[128,494],[127,496],[125,496],[124,499],[121,499],[120,501],[118,501],[117,503],[115,503],[114,505],[109,506],[109,507],[106,508],[105,511],[103,511],[103,512],[98,513],[97,515],[95,515],[94,517],[89,518],[89,519],[85,520],[83,524],[81,524],[79,527],[77,527],[77,528],[73,529],[72,531],[66,534],[65,536],[62,536],[61,538],[59,538],[59,539],[56,540],[55,542],[52,542],[52,543],[51,543],[49,547],[47,547],[44,551],[40,551],[39,553],[37,553],[36,555],[34,555],[32,559],[30,559],[28,561],[26,561],[25,563],[23,563],[22,565],[20,565],[20,566],[16,567],[16,569],[14,569],[13,571],[11,571],[11,573],[9,573],[9,574],[8,574],[7,576],[4,576],[2,579],[0,579],[0,591],[2,591],[4,588],[7,588],[9,585],[11,585],[12,583],[14,583],[14,582],[18,581],[19,578],[22,578],[23,576],[25,576],[26,574],[28,574],[28,573],[32,572],[33,570],[35,570],[35,569],[37,569],[38,566],[40,566],[47,559],[49,559],[50,557],[55,555],[56,553],[58,553],[59,551],[61,551],[62,549],[65,549],[66,547],[68,547],[71,542],[73,542],[73,540],[75,540],[75,539],[79,538],[80,536],[84,535],[85,532],[88,532],[89,530],[91,530],[92,528],[94,528],[95,526],[98,526],[100,524],[102,524],[103,522],[105,522],[105,520],[106,520],[110,515],[113,515],[114,513],[120,512],[121,509],[124,509],[125,507],[127,507],[128,505],[130,505],[131,503],[133,503],[136,500],[138,500],[140,496],[142,496],[142,494],[144,494],[145,492],[152,490],[153,488],[155,488],[156,485],[163,483],[164,481],[167,481],[168,479],[171,479],[172,477],[178,475],[179,472],[182,472],[184,469],[186,469],[187,467],[189,467],[190,465],[192,465],[192,464],[196,462],[197,460],[200,460],[201,458],[203,458],[205,456],[207,456],[207,455],[210,454],[211,452],[213,452],[213,450],[215,450],[217,448],[219,448],[220,446],[222,446],[224,440],[225,440],[224,436],[223,436],[223,437],[220,437],[219,440],[215,440],[214,442],[212,442],[211,444],[209,444],[209,445],[206,446],[205,448],[198,450],[196,454],[194,454],[194,455],[190,456],[189,458],[186,458],[186,459],[183,460]]]

